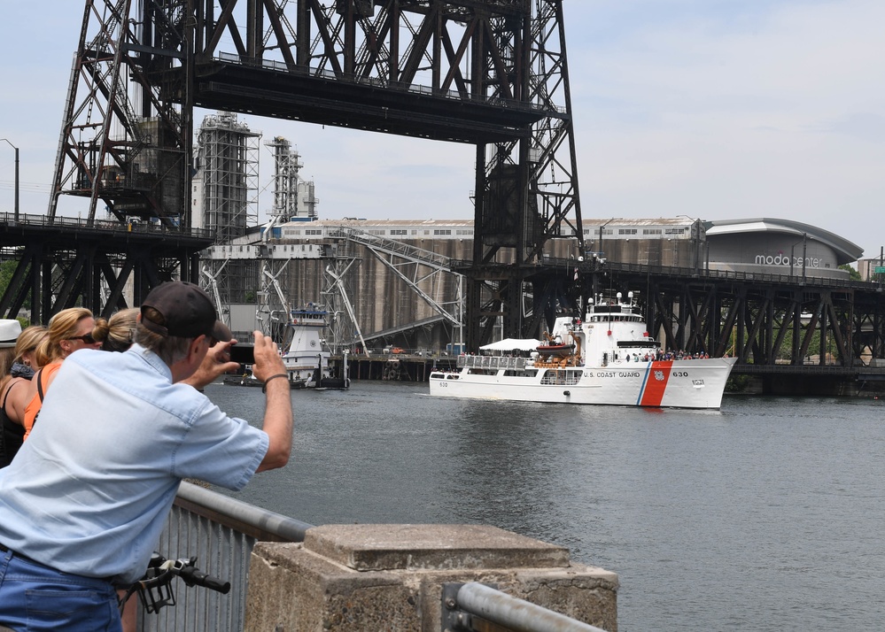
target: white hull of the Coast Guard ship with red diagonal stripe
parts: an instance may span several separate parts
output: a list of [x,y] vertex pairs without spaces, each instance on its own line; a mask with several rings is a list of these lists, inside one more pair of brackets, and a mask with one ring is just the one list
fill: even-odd
[[710,358],[524,371],[464,368],[459,373],[431,373],[430,393],[549,404],[716,409],[734,362]]

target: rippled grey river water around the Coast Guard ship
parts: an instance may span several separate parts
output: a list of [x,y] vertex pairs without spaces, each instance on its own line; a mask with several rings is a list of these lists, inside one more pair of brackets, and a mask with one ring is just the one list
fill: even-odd
[[[485,523],[618,574],[621,632],[885,628],[885,401],[720,411],[293,391],[289,466],[236,496],[327,523]],[[260,420],[260,389],[211,385]]]

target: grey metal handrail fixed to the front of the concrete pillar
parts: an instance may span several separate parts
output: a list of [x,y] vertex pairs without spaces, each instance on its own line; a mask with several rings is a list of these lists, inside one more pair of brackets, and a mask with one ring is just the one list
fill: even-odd
[[605,632],[479,582],[445,584],[442,613],[443,632]]

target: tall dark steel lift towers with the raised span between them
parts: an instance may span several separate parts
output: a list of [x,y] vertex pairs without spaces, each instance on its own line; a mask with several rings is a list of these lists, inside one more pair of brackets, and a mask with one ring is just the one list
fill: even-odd
[[49,217],[191,227],[195,107],[473,144],[471,347],[537,329],[544,244],[581,245],[561,0],[87,0]]

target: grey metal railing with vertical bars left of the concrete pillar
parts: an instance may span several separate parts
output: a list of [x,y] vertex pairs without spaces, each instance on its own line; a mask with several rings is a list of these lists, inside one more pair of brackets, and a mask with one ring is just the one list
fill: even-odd
[[313,525],[268,512],[210,489],[182,482],[159,552],[168,559],[197,556],[203,572],[230,582],[227,595],[175,582],[176,604],[157,614],[139,612],[142,632],[241,630],[249,558],[256,542],[303,542]]

